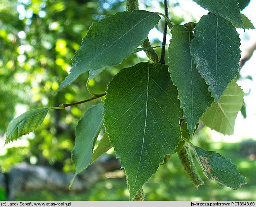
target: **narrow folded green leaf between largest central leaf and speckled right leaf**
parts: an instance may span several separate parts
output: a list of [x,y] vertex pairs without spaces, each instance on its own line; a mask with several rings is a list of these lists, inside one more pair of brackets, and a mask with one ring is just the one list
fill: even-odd
[[192,38],[192,31],[181,25],[175,25],[172,28],[172,39],[168,48],[169,72],[174,85],[177,86],[180,107],[183,109],[191,136],[200,117],[213,102],[211,93],[191,57]]

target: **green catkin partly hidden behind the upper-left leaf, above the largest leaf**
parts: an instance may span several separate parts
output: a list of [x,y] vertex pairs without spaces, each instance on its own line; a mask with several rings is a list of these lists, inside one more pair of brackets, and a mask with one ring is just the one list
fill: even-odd
[[[139,9],[139,1],[138,0],[126,0],[125,7],[127,12],[132,12],[133,10]],[[149,42],[148,37],[142,43],[142,48],[150,48],[151,44]],[[158,63],[158,55],[156,54],[153,48],[145,50],[148,59],[151,60],[153,63]]]

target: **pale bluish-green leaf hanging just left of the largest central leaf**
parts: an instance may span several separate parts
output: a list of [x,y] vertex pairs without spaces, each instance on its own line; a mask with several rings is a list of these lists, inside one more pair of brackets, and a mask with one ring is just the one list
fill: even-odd
[[76,142],[71,151],[76,174],[87,168],[91,162],[95,141],[103,125],[103,104],[87,109],[76,126]]

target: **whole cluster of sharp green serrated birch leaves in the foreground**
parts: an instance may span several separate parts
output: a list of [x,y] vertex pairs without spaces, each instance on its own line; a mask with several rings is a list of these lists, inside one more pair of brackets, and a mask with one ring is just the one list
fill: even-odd
[[[235,26],[252,28],[252,25],[241,15],[236,0],[195,2],[210,13],[197,24],[174,25],[168,66],[138,63],[121,70],[108,85],[104,105],[94,105],[81,117],[72,151],[76,175],[114,147],[125,169],[130,196],[134,198],[163,164],[165,156],[179,152],[184,144],[182,137],[188,141],[193,136],[201,117],[206,126],[223,134],[233,133],[244,96],[235,83],[240,58]],[[142,44],[159,19],[156,13],[134,10],[119,12],[93,24],[60,88],[82,73],[89,71],[92,79],[105,67],[119,64]],[[17,118],[10,126],[7,142],[36,129],[47,111],[42,109],[36,114],[29,113],[29,117],[23,115],[22,120]],[[20,130],[32,118],[39,120],[38,124]],[[182,118],[186,121],[186,137],[180,129]],[[94,150],[103,122],[105,136]],[[246,183],[229,159],[190,144],[210,180],[234,189]],[[229,179],[231,174],[234,176]]]

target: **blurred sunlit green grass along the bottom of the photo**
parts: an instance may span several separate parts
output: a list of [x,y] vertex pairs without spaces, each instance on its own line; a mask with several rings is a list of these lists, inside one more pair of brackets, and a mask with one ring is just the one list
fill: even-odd
[[[217,151],[227,158],[232,158],[233,163],[239,163],[240,173],[246,176],[247,185],[239,190],[232,190],[209,181],[203,175],[199,164],[195,161],[205,185],[196,189],[186,176],[177,154],[170,158],[166,165],[161,165],[148,183],[145,183],[143,190],[145,200],[256,200],[256,161],[244,158],[239,154],[237,143],[208,143],[210,151]],[[193,152],[191,152],[194,156]],[[34,191],[20,193],[16,200],[129,200],[125,177],[122,170],[113,173],[106,173],[93,187],[85,192],[52,192]]]

